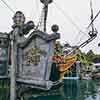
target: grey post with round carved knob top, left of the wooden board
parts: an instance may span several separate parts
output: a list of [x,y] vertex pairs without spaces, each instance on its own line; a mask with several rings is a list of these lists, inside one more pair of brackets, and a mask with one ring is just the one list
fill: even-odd
[[20,27],[24,25],[25,17],[21,11],[17,11],[13,17],[13,32],[11,34],[11,70],[10,70],[10,100],[16,100],[16,67],[17,47],[16,36],[19,35]]

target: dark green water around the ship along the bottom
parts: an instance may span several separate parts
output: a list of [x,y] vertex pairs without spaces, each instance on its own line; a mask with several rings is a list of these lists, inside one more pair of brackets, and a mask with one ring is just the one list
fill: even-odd
[[[0,91],[0,97],[5,93]],[[100,80],[65,80],[64,86],[57,90],[26,92],[21,100],[100,100]]]

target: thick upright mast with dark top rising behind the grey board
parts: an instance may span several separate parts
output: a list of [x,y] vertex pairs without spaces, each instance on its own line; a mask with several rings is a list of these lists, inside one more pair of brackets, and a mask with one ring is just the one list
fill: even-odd
[[44,4],[44,7],[43,7],[43,31],[46,32],[46,22],[47,22],[47,14],[48,14],[48,4],[52,3],[52,0],[40,0],[41,3]]

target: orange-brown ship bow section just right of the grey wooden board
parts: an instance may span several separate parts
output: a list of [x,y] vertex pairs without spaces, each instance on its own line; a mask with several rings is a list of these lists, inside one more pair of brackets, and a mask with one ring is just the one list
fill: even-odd
[[60,72],[60,79],[64,77],[66,71],[76,62],[76,54],[69,54],[67,56],[53,56],[53,61],[57,64]]

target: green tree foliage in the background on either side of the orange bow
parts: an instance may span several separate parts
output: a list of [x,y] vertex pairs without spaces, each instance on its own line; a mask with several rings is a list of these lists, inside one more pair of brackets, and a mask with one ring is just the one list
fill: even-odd
[[[62,45],[60,41],[55,42],[55,54],[62,54],[64,47],[71,47],[69,44]],[[94,53],[92,50],[89,50],[87,53],[82,52],[80,49],[77,49],[77,60],[79,60],[83,65],[90,66],[92,63],[100,63],[100,54]]]

